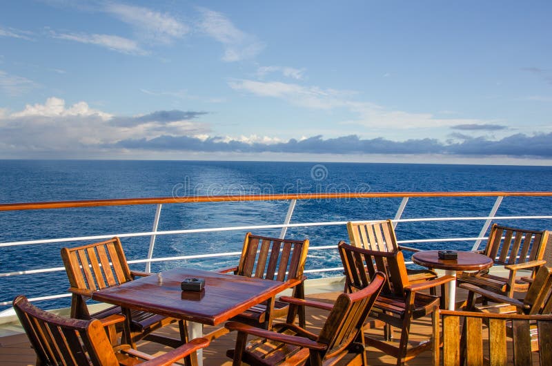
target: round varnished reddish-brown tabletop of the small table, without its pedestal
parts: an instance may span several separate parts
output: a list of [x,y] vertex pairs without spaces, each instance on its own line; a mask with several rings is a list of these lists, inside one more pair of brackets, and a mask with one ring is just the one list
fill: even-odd
[[440,259],[439,251],[417,251],[412,261],[424,267],[448,269],[451,271],[480,271],[493,267],[493,260],[473,251],[457,251],[457,259]]

